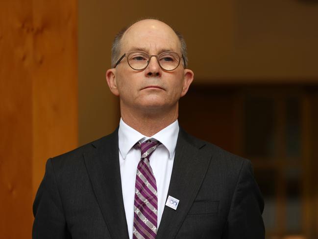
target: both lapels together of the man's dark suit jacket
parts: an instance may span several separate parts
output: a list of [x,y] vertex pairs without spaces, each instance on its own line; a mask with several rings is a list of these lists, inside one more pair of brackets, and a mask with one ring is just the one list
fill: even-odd
[[[177,210],[165,207],[156,239],[172,239],[182,225],[205,173],[211,156],[200,149],[205,143],[179,130],[168,195],[180,200]],[[128,239],[122,199],[118,153],[118,128],[92,143],[84,155],[85,164],[100,210],[112,239]],[[191,179],[191,180],[189,180]]]

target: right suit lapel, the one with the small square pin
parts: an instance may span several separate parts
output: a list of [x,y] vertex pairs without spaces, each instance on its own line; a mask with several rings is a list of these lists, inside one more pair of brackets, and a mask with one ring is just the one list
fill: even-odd
[[180,128],[167,195],[180,202],[176,210],[165,206],[156,239],[174,238],[190,210],[211,159],[200,152],[204,145]]

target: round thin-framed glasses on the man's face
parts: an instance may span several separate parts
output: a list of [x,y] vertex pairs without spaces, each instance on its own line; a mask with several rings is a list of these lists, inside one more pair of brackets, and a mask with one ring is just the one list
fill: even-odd
[[124,53],[122,57],[116,62],[114,68],[121,62],[122,58],[125,56],[127,58],[128,65],[136,71],[146,69],[152,56],[155,56],[157,58],[159,66],[165,71],[175,70],[179,66],[181,58],[183,59],[183,63],[185,65],[183,55],[181,55],[180,57],[179,54],[175,52],[164,52],[160,53],[159,55],[149,55],[145,52],[134,51]]

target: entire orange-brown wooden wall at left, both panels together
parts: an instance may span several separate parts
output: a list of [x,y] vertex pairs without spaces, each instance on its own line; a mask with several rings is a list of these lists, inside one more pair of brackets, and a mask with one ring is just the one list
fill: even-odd
[[23,239],[46,160],[77,146],[77,1],[0,5],[0,238]]

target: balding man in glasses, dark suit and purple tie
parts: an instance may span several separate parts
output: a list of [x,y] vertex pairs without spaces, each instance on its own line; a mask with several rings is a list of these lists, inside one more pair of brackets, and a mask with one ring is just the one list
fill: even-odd
[[106,73],[119,129],[48,160],[34,239],[264,239],[250,162],[179,128],[186,64],[182,36],[163,22],[119,33]]

